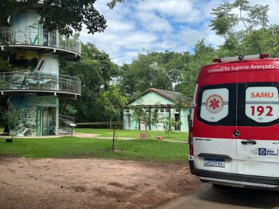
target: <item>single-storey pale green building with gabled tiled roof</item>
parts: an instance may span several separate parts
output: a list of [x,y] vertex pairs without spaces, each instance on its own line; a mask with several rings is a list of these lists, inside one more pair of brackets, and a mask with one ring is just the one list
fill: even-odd
[[[139,124],[133,120],[133,109],[129,106],[137,105],[139,100],[142,101],[146,108],[146,112],[152,112],[154,105],[159,105],[159,117],[173,117],[182,122],[181,125],[174,127],[177,131],[188,131],[188,108],[177,109],[174,105],[175,97],[181,95],[179,92],[171,92],[159,89],[148,89],[140,95],[138,100],[132,100],[127,104],[127,108],[123,113],[124,129],[126,130],[144,130],[144,124]],[[163,130],[162,124],[157,127],[150,125],[148,130]]]

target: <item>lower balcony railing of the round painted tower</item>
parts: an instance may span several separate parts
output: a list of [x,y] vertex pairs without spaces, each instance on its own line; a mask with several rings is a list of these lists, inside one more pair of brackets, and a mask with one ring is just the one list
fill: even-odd
[[76,77],[48,73],[0,73],[0,91],[32,90],[81,94],[81,80]]

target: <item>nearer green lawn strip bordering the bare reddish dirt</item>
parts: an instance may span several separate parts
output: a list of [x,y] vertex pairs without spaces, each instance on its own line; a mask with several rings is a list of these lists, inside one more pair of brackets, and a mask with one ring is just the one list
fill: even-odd
[[6,143],[0,138],[0,155],[27,158],[108,158],[121,160],[187,162],[188,144],[158,140],[112,140],[78,137],[19,139]]

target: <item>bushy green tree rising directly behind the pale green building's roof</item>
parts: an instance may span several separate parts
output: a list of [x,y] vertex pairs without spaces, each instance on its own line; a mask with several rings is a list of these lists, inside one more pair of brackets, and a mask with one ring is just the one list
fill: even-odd
[[121,67],[121,89],[127,96],[149,88],[173,90],[173,83],[181,76],[183,60],[177,52],[154,52],[138,54],[130,65]]

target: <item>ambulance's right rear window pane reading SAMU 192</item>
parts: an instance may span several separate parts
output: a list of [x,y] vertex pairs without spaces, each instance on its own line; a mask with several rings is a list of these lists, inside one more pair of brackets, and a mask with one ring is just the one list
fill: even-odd
[[279,83],[238,85],[238,126],[270,126],[279,123]]

